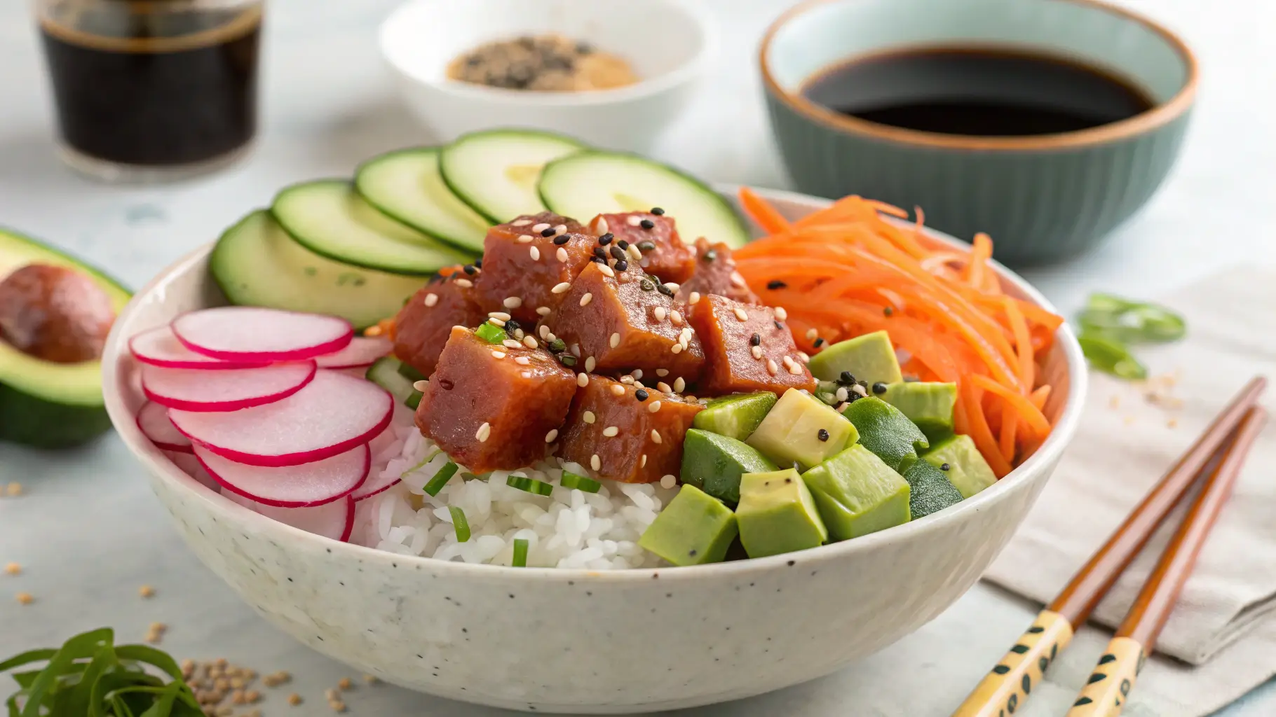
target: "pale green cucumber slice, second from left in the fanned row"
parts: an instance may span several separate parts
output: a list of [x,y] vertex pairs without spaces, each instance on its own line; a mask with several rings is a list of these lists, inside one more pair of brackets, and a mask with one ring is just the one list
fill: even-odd
[[356,266],[424,276],[473,259],[382,214],[345,180],[286,187],[271,213],[310,251]]

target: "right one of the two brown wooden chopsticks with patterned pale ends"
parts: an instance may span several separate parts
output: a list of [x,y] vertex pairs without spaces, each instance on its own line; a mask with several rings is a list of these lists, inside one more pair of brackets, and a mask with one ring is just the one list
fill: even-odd
[[1245,464],[1249,448],[1267,423],[1267,411],[1254,406],[1236,429],[1231,446],[1206,476],[1174,537],[1165,546],[1160,562],[1116,628],[1116,635],[1099,658],[1086,688],[1068,711],[1068,717],[1116,717],[1129,697],[1134,679],[1143,669],[1145,656],[1152,652],[1161,628],[1169,620],[1183,585],[1192,574],[1201,546],[1213,527],[1224,503],[1231,495],[1236,475]]

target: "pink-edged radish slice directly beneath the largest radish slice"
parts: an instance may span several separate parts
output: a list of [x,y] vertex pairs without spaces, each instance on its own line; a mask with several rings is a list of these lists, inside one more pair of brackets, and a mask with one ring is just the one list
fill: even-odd
[[277,508],[323,506],[345,498],[364,484],[373,465],[373,452],[366,443],[299,466],[246,466],[203,446],[195,446],[195,457],[222,488]]

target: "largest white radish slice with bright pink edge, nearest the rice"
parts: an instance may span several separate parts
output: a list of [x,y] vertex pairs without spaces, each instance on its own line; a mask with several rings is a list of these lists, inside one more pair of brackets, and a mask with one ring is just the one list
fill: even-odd
[[367,443],[394,415],[394,399],[371,381],[320,369],[296,394],[232,413],[172,409],[191,442],[250,466],[295,466]]

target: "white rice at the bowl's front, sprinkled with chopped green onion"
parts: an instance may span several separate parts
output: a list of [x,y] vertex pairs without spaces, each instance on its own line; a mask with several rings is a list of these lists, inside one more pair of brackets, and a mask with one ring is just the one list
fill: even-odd
[[[514,540],[526,539],[528,567],[602,571],[662,564],[638,546],[638,537],[678,488],[602,480],[597,493],[568,489],[560,485],[564,469],[578,475],[588,471],[551,457],[485,478],[462,469],[438,495],[427,495],[425,484],[448,457],[402,411],[373,442],[373,451],[369,479],[397,476],[401,481],[359,502],[352,543],[402,555],[509,565]],[[536,495],[512,488],[505,484],[510,475],[542,480],[554,492]],[[464,511],[470,523],[464,543],[457,541],[453,507]]]

